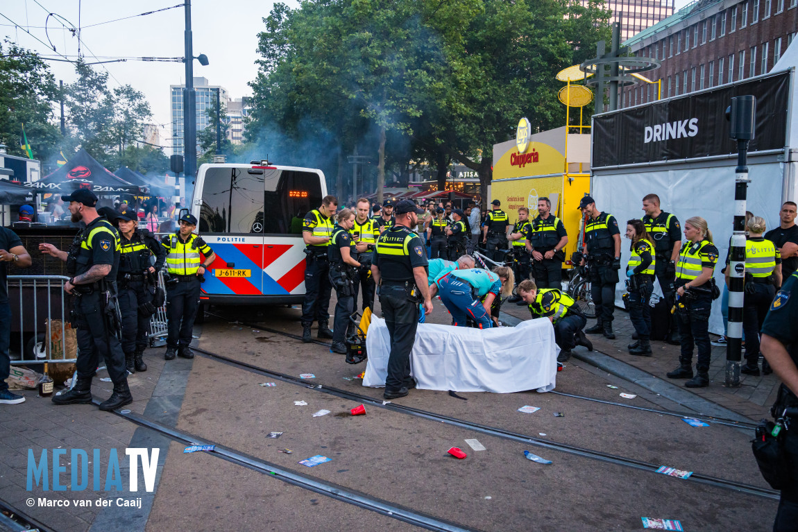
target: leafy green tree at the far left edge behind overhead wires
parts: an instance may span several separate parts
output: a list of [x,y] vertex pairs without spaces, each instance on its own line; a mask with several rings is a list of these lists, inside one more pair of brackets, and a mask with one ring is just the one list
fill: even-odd
[[27,156],[19,144],[22,124],[34,157],[57,155],[61,135],[53,126],[53,103],[58,98],[53,74],[36,53],[0,43],[0,142],[11,155]]

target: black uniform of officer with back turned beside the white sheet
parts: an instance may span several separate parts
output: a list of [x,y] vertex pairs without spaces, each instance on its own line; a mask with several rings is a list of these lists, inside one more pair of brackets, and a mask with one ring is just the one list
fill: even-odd
[[410,351],[416,340],[421,301],[413,268],[428,265],[424,242],[407,227],[391,227],[377,238],[374,266],[380,271],[380,305],[391,338],[386,393],[411,384]]

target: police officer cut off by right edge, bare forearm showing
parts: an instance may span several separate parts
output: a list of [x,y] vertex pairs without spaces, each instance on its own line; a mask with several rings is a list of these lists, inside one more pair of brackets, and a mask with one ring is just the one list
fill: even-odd
[[[785,408],[798,407],[798,272],[793,273],[776,292],[762,325],[762,354],[781,380],[779,395],[771,412],[776,418]],[[747,342],[747,340],[746,340]],[[796,530],[798,522],[798,420],[787,419],[782,430],[781,451],[788,464],[789,485],[781,489],[774,532]]]

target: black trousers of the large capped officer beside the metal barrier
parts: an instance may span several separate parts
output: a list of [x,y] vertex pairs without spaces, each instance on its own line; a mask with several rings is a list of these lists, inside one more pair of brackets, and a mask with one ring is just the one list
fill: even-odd
[[127,380],[122,346],[105,324],[104,305],[101,298],[105,293],[93,292],[76,296],[74,311],[77,317],[77,376],[90,379],[97,372],[97,366],[105,361],[105,368],[113,384]]

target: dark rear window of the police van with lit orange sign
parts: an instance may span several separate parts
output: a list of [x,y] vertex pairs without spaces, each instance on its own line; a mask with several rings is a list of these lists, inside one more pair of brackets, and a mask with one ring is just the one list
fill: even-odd
[[302,219],[322,202],[322,187],[313,172],[211,167],[202,200],[202,233],[302,234]]

